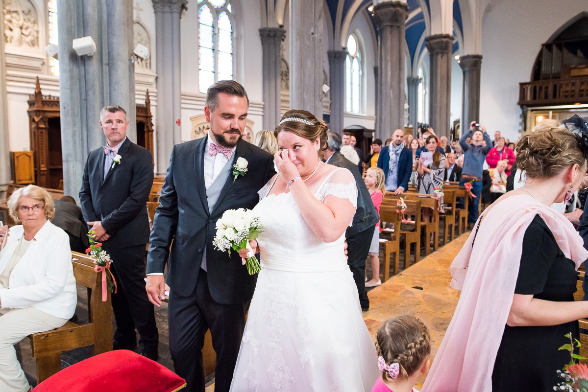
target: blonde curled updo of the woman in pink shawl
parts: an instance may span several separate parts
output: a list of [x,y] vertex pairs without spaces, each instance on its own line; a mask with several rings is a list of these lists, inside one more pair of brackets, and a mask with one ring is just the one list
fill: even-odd
[[523,136],[517,144],[516,164],[529,178],[551,178],[574,163],[586,169],[588,137],[564,128],[537,131]]

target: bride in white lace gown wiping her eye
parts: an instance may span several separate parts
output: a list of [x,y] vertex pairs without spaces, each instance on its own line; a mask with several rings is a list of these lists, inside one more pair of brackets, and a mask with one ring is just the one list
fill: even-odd
[[304,110],[276,127],[279,174],[253,209],[262,271],[231,391],[369,391],[379,376],[343,252],[357,188],[348,170],[321,161],[327,130]]

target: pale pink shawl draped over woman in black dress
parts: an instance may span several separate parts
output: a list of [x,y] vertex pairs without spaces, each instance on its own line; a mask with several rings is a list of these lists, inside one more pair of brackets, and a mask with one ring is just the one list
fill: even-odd
[[462,293],[423,392],[492,391],[492,371],[515,293],[523,236],[535,215],[545,221],[576,269],[588,258],[582,238],[563,214],[530,196],[511,196],[482,215],[477,235],[472,231],[449,268],[450,286]]

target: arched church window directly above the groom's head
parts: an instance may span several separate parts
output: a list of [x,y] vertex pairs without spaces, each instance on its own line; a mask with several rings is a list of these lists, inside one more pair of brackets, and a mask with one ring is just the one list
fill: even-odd
[[198,0],[198,84],[201,93],[233,79],[233,20],[227,0]]

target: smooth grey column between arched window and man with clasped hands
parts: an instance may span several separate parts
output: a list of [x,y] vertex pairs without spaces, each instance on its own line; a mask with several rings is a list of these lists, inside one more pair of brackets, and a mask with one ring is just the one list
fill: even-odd
[[157,54],[156,173],[165,174],[174,144],[182,141],[180,17],[186,0],[152,0]]

